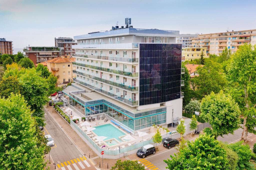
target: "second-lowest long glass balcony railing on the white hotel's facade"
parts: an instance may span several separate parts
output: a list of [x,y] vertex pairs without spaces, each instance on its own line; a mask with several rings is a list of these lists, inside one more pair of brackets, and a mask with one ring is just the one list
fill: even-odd
[[94,79],[94,80],[97,80],[97,81],[100,81],[100,82],[103,82],[103,83],[107,83],[107,84],[112,85],[112,86],[120,87],[120,88],[125,89],[125,90],[138,91],[138,87],[126,86],[124,84],[120,84],[120,83],[112,82],[112,81],[109,81],[109,80],[105,80],[105,79],[102,79],[100,77],[92,76],[90,74],[86,74],[86,73],[83,73],[83,72],[80,72],[80,71],[77,71],[77,70],[73,70],[73,73],[83,75],[83,76],[89,77],[91,79]]

